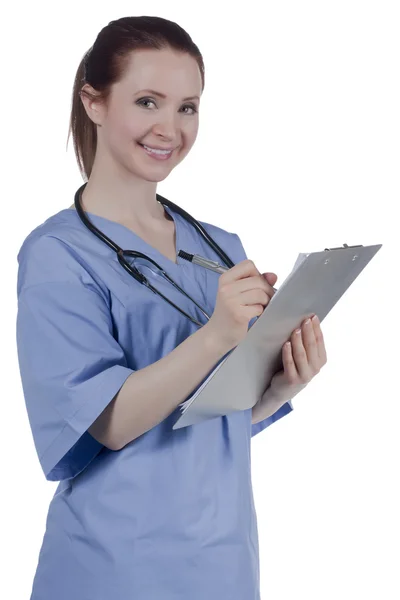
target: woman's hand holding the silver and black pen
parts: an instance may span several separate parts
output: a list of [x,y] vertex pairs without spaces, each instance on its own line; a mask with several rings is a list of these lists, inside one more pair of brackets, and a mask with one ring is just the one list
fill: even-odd
[[[246,336],[249,321],[262,314],[274,295],[266,275],[249,259],[220,275],[214,312],[205,327],[226,352]],[[268,275],[275,283],[276,275]]]

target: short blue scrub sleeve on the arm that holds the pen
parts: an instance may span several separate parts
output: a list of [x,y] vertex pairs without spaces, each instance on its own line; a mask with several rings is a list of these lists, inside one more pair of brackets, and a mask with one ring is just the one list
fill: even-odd
[[68,246],[41,237],[18,255],[17,352],[36,452],[49,481],[103,448],[87,431],[134,372],[104,290]]

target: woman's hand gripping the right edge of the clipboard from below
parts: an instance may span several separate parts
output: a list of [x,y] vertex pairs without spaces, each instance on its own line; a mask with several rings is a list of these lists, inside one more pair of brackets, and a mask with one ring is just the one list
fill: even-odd
[[326,349],[319,319],[306,319],[295,329],[282,350],[283,370],[274,375],[268,392],[292,399],[303,390],[326,364]]

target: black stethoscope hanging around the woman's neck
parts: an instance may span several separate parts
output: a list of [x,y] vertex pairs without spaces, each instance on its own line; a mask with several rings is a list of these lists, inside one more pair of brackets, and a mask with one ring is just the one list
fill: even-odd
[[[187,292],[185,292],[185,290],[183,290],[176,283],[176,281],[174,281],[172,279],[172,277],[170,277],[168,275],[168,273],[166,273],[165,270],[155,260],[153,260],[152,258],[147,256],[146,254],[143,254],[142,252],[137,252],[136,250],[123,250],[122,248],[120,248],[118,246],[118,244],[113,242],[113,240],[111,240],[102,231],[100,231],[100,229],[98,229],[97,227],[95,227],[95,225],[93,225],[93,223],[86,216],[86,213],[81,206],[82,193],[86,186],[87,186],[87,183],[84,183],[75,193],[75,208],[76,208],[76,212],[78,213],[82,223],[88,229],[90,229],[90,231],[92,233],[94,233],[98,238],[100,238],[104,243],[106,243],[112,250],[114,250],[117,253],[118,261],[121,264],[121,266],[132,277],[134,277],[136,279],[136,281],[138,281],[139,283],[148,287],[149,290],[151,290],[154,294],[158,294],[161,298],[163,298],[166,302],[168,302],[168,304],[170,304],[171,306],[176,308],[176,310],[178,310],[181,314],[183,314],[185,317],[190,319],[193,323],[202,327],[203,323],[200,323],[200,321],[197,321],[197,319],[194,319],[193,317],[191,317],[188,313],[186,313],[184,310],[179,308],[179,306],[177,306],[169,298],[164,296],[164,294],[162,294],[153,285],[151,285],[151,283],[148,281],[147,277],[145,277],[137,269],[137,267],[135,265],[131,265],[126,260],[125,257],[126,256],[137,257],[137,258],[141,258],[143,260],[146,260],[146,261],[152,263],[159,270],[162,277],[164,277],[167,281],[169,281],[169,283],[171,283],[179,292],[181,292],[181,294],[183,294],[184,296],[186,296],[186,298],[188,298],[191,302],[193,302],[197,306],[197,308],[203,313],[203,315],[206,317],[206,319],[209,320],[210,316],[206,313],[206,311],[196,302],[196,300],[194,300],[191,296],[189,296],[189,294]],[[197,231],[204,237],[204,239],[206,240],[208,245],[218,254],[218,256],[224,261],[224,263],[226,264],[226,266],[229,269],[232,268],[233,266],[235,266],[235,263],[233,263],[231,261],[229,256],[227,254],[225,254],[225,252],[222,250],[222,248],[212,239],[212,237],[207,233],[207,231],[204,229],[204,227],[202,227],[202,225],[200,225],[200,223],[198,221],[196,221],[196,219],[194,217],[192,217],[189,213],[187,213],[185,210],[183,210],[183,208],[180,208],[177,204],[174,204],[170,200],[167,200],[160,194],[156,194],[156,198],[157,198],[158,202],[160,202],[164,206],[168,206],[170,209],[172,209],[173,211],[180,214],[186,221],[191,223],[191,225],[193,225],[193,227],[195,229],[197,229]]]

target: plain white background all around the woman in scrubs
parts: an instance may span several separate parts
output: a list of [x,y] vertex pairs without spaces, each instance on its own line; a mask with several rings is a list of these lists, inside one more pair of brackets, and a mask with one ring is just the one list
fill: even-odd
[[83,183],[72,138],[66,151],[83,53],[110,20],[147,14],[183,26],[206,67],[197,142],[161,194],[238,233],[277,286],[299,252],[383,244],[323,322],[327,365],[253,439],[252,477],[263,600],[398,600],[399,5],[107,4],[3,9],[0,596],[29,598],[57,485],[19,379],[16,255]]

